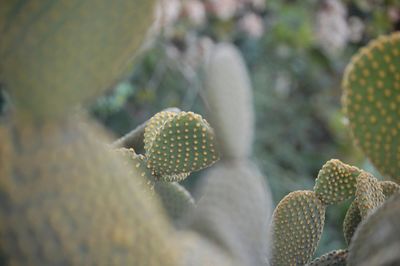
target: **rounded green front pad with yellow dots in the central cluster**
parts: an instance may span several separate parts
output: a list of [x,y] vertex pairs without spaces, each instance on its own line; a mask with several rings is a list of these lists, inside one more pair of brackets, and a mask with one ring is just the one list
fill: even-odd
[[153,174],[166,180],[210,166],[219,158],[213,130],[192,112],[168,119],[148,146],[146,157]]

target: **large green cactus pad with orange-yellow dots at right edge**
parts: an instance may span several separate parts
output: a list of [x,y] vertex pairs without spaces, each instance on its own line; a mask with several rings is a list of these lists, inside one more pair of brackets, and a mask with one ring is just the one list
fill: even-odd
[[382,174],[400,182],[399,32],[379,37],[353,57],[343,90],[357,145]]

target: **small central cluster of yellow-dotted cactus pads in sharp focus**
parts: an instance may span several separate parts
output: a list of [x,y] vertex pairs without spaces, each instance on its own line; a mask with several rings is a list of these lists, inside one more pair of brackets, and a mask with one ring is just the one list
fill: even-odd
[[178,182],[219,159],[213,129],[199,114],[162,111],[145,123],[144,154],[117,149],[144,178],[143,189],[155,191],[168,216],[178,223],[194,206],[191,194]]

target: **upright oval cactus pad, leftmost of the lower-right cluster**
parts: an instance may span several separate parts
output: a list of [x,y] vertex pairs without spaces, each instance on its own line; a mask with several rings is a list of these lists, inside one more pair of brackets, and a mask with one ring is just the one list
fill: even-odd
[[312,191],[295,191],[272,215],[272,265],[304,265],[313,256],[325,221],[325,206]]

